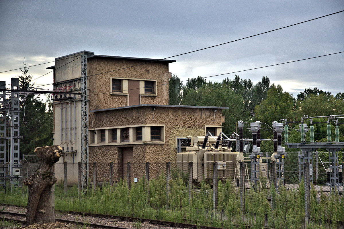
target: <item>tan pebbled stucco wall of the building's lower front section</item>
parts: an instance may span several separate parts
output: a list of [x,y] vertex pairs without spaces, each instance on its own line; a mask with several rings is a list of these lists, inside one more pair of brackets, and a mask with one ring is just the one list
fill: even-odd
[[[136,107],[115,111],[95,112],[94,127],[117,127],[139,124],[161,124],[165,125],[165,144],[131,144],[119,146],[90,146],[89,161],[98,163],[98,180],[102,180],[104,174],[108,179],[109,163],[115,164],[121,158],[121,147],[133,147],[133,174],[132,178],[141,177],[145,172],[145,162],[150,162],[151,177],[157,176],[164,171],[165,163],[176,161],[176,136],[203,136],[206,125],[221,126],[221,110],[202,108],[174,108],[174,107]],[[99,169],[100,164],[105,169]],[[115,169],[114,165],[114,170]],[[118,171],[114,171],[114,180],[118,180],[122,174],[121,162],[118,163]],[[93,171],[92,166],[90,169]],[[93,174],[93,173],[90,173]],[[115,176],[117,174],[117,176]]]

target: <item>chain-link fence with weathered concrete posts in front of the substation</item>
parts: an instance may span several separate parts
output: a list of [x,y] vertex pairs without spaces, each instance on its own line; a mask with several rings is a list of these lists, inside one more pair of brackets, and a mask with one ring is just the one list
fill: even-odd
[[[82,198],[81,166],[56,163],[57,206],[214,227],[343,228],[342,164],[337,164],[338,179],[330,186],[333,174],[325,152],[313,152],[307,160],[289,152],[281,161],[262,153],[257,162],[256,174],[248,155],[230,171],[223,162],[92,162],[89,186],[84,187],[88,192]],[[27,164],[23,171],[34,166]]]

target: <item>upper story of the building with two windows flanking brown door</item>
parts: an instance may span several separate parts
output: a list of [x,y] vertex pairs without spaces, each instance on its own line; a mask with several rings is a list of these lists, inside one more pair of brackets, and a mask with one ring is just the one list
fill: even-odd
[[[81,87],[81,55],[87,56],[89,110],[169,103],[169,63],[175,60],[78,53],[55,58],[54,89]],[[68,97],[68,96],[67,96]],[[63,96],[56,97],[63,100]]]

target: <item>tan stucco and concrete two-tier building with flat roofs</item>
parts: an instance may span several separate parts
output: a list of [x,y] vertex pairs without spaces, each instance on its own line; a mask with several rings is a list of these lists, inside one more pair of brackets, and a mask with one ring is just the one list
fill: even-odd
[[[87,55],[89,90],[89,167],[97,162],[98,179],[109,178],[114,162],[114,180],[126,176],[131,162],[131,178],[144,174],[151,163],[155,176],[167,161],[176,161],[176,138],[218,135],[222,130],[222,109],[228,107],[175,106],[169,103],[169,64],[175,60],[94,55],[81,51],[55,59],[54,89],[80,92],[81,55]],[[66,89],[67,88],[67,89]],[[63,162],[68,163],[68,182],[78,179],[81,155],[81,98],[53,95],[54,144],[64,154],[55,166],[63,178]]]

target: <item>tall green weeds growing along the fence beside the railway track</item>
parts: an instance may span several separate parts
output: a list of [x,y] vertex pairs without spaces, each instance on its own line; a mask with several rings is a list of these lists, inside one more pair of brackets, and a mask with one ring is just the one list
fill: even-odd
[[[117,216],[132,216],[212,227],[244,228],[240,211],[240,198],[232,182],[218,183],[218,206],[213,211],[213,190],[202,182],[191,193],[189,204],[185,179],[175,175],[170,180],[170,193],[166,199],[166,178],[161,175],[149,182],[149,198],[146,181],[139,179],[132,183],[131,190],[125,181],[116,186],[97,186],[89,189],[87,195],[78,197],[77,187],[69,188],[63,194],[63,185],[55,185],[55,209],[85,213],[98,213]],[[262,228],[267,222],[271,228],[302,228],[304,222],[304,189],[301,182],[299,190],[284,187],[277,193],[274,188],[246,190],[245,223],[252,228]],[[2,204],[25,206],[27,188],[14,188],[13,193],[0,194]],[[311,189],[309,228],[337,228],[344,221],[343,196],[320,193]],[[268,199],[271,198],[271,202]],[[167,204],[167,208],[166,208]],[[330,220],[330,221],[329,221]],[[139,229],[141,225],[136,224]]]

